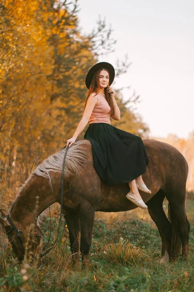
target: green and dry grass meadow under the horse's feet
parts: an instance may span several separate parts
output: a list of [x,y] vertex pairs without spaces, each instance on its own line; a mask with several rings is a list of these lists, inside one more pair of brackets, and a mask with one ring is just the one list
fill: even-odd
[[[191,223],[188,263],[177,260],[160,265],[161,238],[155,224],[138,216],[130,219],[129,213],[128,219],[118,221],[117,217],[111,224],[95,220],[90,267],[73,268],[64,222],[58,245],[45,256],[40,268],[29,267],[27,263],[19,265],[9,247],[0,250],[0,291],[194,291],[193,214],[194,201],[188,200],[187,215]],[[49,220],[45,232],[48,226]],[[53,217],[52,239],[57,226],[58,221]]]

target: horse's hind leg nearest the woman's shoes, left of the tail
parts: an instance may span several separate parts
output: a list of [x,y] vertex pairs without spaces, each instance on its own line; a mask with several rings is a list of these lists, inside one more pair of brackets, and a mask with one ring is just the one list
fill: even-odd
[[172,237],[172,227],[163,211],[162,202],[165,194],[159,190],[156,195],[146,204],[152,220],[156,223],[162,238],[162,258],[161,263],[166,263],[170,258],[170,245]]

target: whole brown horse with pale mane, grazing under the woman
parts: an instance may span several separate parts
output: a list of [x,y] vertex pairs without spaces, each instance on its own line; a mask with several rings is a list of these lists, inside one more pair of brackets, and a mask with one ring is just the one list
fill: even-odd
[[[188,258],[190,224],[185,212],[186,180],[188,165],[183,155],[173,146],[155,140],[144,140],[149,164],[143,180],[152,194],[141,192],[148,211],[162,237],[162,259],[168,261],[178,254],[178,240],[182,243],[182,257]],[[14,230],[7,220],[7,212],[0,210],[4,219],[1,229],[11,241],[14,252],[21,260],[34,209],[41,214],[54,202],[60,203],[61,173],[65,147],[43,161],[19,189],[16,200],[9,209]],[[128,183],[107,186],[97,175],[93,166],[92,146],[86,139],[77,140],[67,151],[64,180],[64,214],[69,230],[73,259],[82,263],[89,260],[95,211],[119,212],[136,208],[126,199]],[[39,204],[36,206],[36,196]],[[162,208],[164,198],[169,201],[170,221]],[[19,229],[20,235],[16,236]],[[35,228],[33,252],[39,248],[40,229]],[[180,246],[179,246],[180,247]]]

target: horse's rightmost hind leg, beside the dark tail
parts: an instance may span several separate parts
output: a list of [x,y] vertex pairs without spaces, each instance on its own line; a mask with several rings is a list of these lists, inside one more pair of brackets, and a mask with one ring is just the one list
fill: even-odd
[[170,204],[170,219],[174,229],[174,238],[172,240],[172,249],[175,255],[178,254],[178,248],[176,250],[176,240],[180,237],[182,243],[182,258],[188,259],[189,252],[189,231],[190,224],[186,216],[185,200],[186,200],[185,187],[181,191],[179,188],[177,191],[165,192],[166,198]]

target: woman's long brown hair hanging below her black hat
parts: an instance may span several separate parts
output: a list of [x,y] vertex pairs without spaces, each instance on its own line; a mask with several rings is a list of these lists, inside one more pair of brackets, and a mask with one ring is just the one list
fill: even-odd
[[[99,77],[100,77],[100,72],[102,70],[105,70],[109,74],[108,70],[105,68],[99,69],[99,70],[97,70],[97,72],[94,73],[93,78],[92,78],[92,82],[91,82],[89,90],[88,90],[87,98],[85,101],[85,106],[86,106],[86,103],[87,103],[87,100],[88,100],[88,97],[90,96],[90,94],[93,92],[98,93],[100,90]],[[109,80],[110,80],[110,74],[109,74]],[[106,100],[107,100],[109,106],[111,107],[111,115],[113,115],[114,114],[113,101],[111,98],[111,94],[108,93],[108,88],[109,88],[109,83],[108,83],[108,86],[104,89],[104,94],[105,94],[105,97],[106,97]],[[84,109],[85,109],[85,107],[84,107]]]

